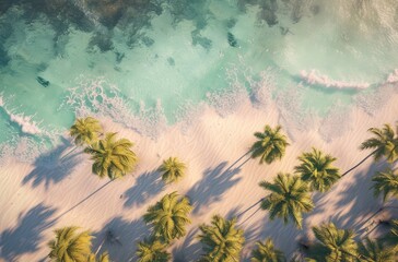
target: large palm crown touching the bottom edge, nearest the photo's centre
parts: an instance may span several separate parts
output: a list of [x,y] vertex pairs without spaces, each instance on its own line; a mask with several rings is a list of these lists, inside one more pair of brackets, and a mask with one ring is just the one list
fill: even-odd
[[236,228],[236,219],[224,219],[215,215],[211,225],[200,225],[198,236],[204,245],[206,254],[201,261],[223,262],[239,261],[239,253],[245,242],[244,231]]

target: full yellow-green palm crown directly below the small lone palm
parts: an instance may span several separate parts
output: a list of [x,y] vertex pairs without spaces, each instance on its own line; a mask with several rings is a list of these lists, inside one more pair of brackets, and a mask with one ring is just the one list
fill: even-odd
[[190,223],[188,214],[191,210],[187,198],[179,198],[177,192],[173,192],[150,206],[143,219],[153,227],[155,237],[169,242],[186,235],[185,226]]

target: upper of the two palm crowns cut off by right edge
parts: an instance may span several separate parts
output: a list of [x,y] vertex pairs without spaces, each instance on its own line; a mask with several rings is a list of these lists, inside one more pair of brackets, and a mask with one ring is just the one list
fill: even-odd
[[368,129],[375,138],[368,139],[361,144],[361,150],[374,148],[374,159],[378,160],[385,156],[388,162],[395,162],[398,158],[398,138],[389,124],[384,124],[383,129]]

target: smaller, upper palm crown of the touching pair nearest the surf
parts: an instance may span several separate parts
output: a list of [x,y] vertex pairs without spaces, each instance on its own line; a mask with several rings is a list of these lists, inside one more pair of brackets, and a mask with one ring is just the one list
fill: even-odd
[[69,129],[69,134],[74,138],[77,145],[90,145],[98,140],[98,134],[103,129],[95,118],[78,118],[73,126]]

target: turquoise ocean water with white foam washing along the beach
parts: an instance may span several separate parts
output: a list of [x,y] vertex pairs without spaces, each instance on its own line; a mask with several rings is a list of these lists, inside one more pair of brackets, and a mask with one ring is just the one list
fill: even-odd
[[231,112],[243,93],[254,103],[269,96],[300,117],[354,105],[372,114],[397,90],[397,3],[5,1],[0,146],[3,154],[51,146],[84,115],[153,135],[201,103]]

